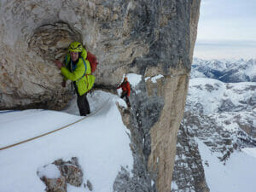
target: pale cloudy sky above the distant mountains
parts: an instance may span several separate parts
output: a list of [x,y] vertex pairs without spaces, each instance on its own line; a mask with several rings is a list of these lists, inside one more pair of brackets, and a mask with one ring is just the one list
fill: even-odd
[[194,56],[256,58],[256,0],[201,0]]

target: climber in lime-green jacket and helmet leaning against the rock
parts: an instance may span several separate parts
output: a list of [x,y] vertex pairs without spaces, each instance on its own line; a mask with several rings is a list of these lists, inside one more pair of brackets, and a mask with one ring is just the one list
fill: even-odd
[[73,81],[78,95],[79,113],[81,116],[86,116],[90,113],[90,105],[86,95],[94,84],[95,76],[90,74],[90,62],[86,60],[87,52],[82,44],[73,42],[69,45],[68,51],[65,64],[61,61],[55,61],[55,65],[61,69],[61,74],[64,76],[62,86],[65,86],[67,79]]

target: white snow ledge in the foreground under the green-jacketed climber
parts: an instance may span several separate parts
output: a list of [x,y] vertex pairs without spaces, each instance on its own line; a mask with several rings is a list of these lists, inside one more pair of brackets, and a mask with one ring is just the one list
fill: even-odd
[[[95,91],[89,96],[93,115],[28,143],[0,150],[0,191],[44,191],[45,185],[38,170],[53,161],[78,157],[93,191],[113,192],[113,182],[121,166],[131,171],[133,159],[129,130],[122,122],[119,105],[125,102],[118,96]],[[81,119],[75,99],[62,112],[49,110],[24,110],[0,112],[0,148],[37,137]],[[54,177],[55,169],[44,174]],[[89,191],[88,188],[67,185],[67,192]]]

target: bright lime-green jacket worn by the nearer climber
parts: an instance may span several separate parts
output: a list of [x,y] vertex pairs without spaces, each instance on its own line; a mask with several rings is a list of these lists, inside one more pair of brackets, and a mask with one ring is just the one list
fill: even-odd
[[[85,51],[85,53],[84,53]],[[84,55],[85,54],[85,55]],[[86,58],[86,50],[83,50],[82,56]],[[86,64],[86,68],[84,65],[84,61]],[[68,63],[70,62],[70,54],[67,54],[65,65],[66,67],[61,67],[61,73],[66,79],[70,79],[76,82],[79,95],[82,96],[88,90],[90,90],[95,82],[95,76],[91,75],[90,71],[90,62],[79,58],[79,61],[74,67],[71,67],[71,70],[68,68]],[[84,75],[85,72],[85,75]]]

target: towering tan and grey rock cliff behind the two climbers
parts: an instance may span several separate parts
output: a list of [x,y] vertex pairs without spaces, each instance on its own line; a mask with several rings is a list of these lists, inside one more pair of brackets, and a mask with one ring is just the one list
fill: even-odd
[[72,90],[61,88],[53,61],[81,41],[100,63],[97,85],[114,88],[126,73],[143,76],[125,121],[135,160],[131,182],[136,191],[170,191],[200,2],[2,1],[0,109],[63,108]]

